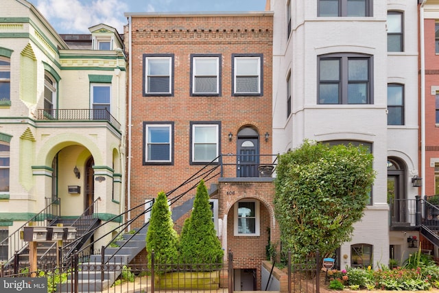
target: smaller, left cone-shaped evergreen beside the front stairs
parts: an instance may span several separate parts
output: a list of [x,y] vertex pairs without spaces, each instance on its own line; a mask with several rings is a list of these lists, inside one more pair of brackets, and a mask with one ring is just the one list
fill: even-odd
[[[161,264],[177,263],[178,234],[174,230],[171,211],[164,192],[158,193],[152,205],[150,225],[146,234],[146,250],[150,254],[154,250],[154,262]],[[149,263],[150,263],[150,257]]]

